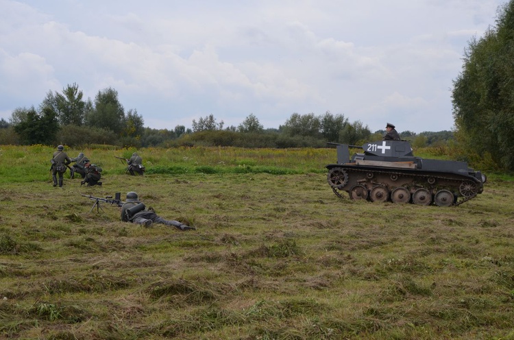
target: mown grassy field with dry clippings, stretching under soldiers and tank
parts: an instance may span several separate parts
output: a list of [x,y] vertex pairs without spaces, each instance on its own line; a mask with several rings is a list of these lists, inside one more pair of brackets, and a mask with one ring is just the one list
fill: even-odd
[[[66,150],[69,151],[69,150]],[[0,338],[514,339],[514,181],[452,208],[339,199],[334,149],[0,146]],[[69,151],[75,157],[77,150]],[[136,191],[180,232],[81,195]]]

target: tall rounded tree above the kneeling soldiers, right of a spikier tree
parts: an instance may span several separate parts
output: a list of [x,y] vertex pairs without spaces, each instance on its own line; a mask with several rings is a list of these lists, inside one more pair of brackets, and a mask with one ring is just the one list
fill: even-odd
[[121,136],[125,127],[125,110],[119,102],[118,92],[114,88],[100,90],[94,103],[86,103],[86,125],[103,127]]

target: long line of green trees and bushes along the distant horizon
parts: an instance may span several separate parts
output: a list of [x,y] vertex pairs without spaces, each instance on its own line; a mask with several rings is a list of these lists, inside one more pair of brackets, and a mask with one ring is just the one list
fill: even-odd
[[[173,130],[151,129],[144,126],[143,116],[136,109],[125,111],[114,88],[99,90],[92,100],[84,99],[82,90],[74,83],[63,88],[62,93],[49,91],[37,108],[16,108],[9,122],[0,119],[0,144],[326,147],[327,142],[362,144],[384,134],[384,130],[371,133],[361,121],[350,122],[344,114],[331,112],[293,113],[283,125],[271,129],[265,129],[254,114],[237,126],[224,125],[209,114],[193,119],[191,129],[184,125]],[[452,138],[451,133],[445,132],[416,135],[406,131],[402,135],[421,146],[445,143]]]

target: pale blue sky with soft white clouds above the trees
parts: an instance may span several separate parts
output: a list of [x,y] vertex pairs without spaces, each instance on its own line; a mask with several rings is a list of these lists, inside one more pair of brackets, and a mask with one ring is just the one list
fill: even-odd
[[146,127],[343,114],[452,130],[470,39],[507,0],[0,0],[0,118],[77,84]]

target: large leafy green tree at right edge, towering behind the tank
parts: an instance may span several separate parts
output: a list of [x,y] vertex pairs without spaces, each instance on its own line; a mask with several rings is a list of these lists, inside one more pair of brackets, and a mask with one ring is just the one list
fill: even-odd
[[454,80],[453,115],[458,145],[467,154],[491,155],[514,169],[514,0],[498,10],[495,27],[473,38]]

